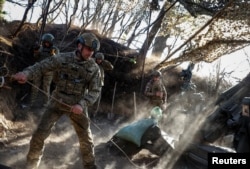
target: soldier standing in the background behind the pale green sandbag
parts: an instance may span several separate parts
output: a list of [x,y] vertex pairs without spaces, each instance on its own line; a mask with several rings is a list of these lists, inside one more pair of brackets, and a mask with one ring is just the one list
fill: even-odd
[[164,110],[164,104],[167,103],[167,91],[161,77],[160,71],[153,72],[152,79],[147,83],[144,94],[150,99],[153,107],[159,106]]

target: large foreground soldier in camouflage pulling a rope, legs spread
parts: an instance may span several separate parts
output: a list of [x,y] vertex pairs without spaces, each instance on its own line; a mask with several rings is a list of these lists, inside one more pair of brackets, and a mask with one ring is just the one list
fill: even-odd
[[28,168],[38,167],[44,141],[62,115],[70,118],[78,135],[84,169],[96,168],[87,108],[101,90],[100,69],[92,58],[99,48],[100,42],[94,34],[83,33],[77,39],[76,51],[50,57],[13,75],[13,79],[22,84],[42,73],[58,71],[56,88],[30,141]]

